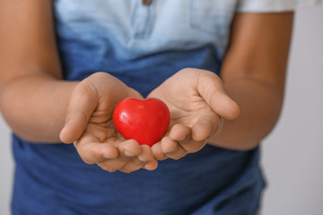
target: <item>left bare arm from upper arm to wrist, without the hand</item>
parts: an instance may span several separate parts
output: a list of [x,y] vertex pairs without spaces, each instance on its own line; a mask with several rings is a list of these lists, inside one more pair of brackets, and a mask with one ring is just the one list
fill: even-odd
[[59,142],[77,82],[62,82],[51,1],[0,1],[0,107],[31,142]]

